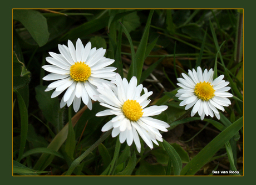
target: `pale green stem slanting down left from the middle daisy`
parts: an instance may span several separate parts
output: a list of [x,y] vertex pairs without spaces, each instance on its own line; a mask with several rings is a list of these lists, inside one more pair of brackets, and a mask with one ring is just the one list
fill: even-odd
[[68,168],[66,176],[70,176],[73,170],[80,164],[80,162],[86,156],[88,156],[88,154],[91,153],[97,146],[99,146],[100,143],[102,143],[104,140],[106,140],[107,137],[109,137],[109,135],[111,134],[111,131],[112,130],[105,132],[104,135],[100,137],[98,141],[96,141],[90,148],[88,148],[85,152],[83,152],[81,156],[77,157],[76,160],[71,163],[70,168]]

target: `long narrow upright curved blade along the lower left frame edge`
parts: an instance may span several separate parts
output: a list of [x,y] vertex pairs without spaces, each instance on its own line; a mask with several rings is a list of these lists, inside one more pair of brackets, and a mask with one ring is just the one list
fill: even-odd
[[25,102],[23,101],[23,98],[21,97],[21,95],[15,89],[13,89],[13,90],[17,95],[18,105],[19,105],[19,115],[21,116],[21,143],[19,145],[19,156],[18,156],[18,160],[17,160],[19,162],[19,161],[21,161],[21,157],[23,155],[24,148],[25,148],[26,141],[27,141],[28,111],[27,111],[27,107],[26,107]]

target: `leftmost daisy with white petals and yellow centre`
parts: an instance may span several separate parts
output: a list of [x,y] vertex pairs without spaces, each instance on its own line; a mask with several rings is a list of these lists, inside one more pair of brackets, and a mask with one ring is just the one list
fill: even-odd
[[80,108],[81,99],[88,109],[92,109],[92,101],[96,101],[93,95],[99,94],[96,86],[102,83],[110,83],[115,79],[116,70],[114,67],[106,67],[115,60],[104,56],[106,49],[92,48],[88,42],[85,47],[78,38],[76,48],[70,40],[66,45],[58,44],[60,54],[49,52],[51,56],[46,57],[46,61],[51,65],[42,66],[43,69],[50,72],[43,80],[57,80],[48,85],[45,91],[55,89],[51,97],[66,92],[61,100],[61,108],[67,104],[70,106],[73,102],[73,109],[77,112]]

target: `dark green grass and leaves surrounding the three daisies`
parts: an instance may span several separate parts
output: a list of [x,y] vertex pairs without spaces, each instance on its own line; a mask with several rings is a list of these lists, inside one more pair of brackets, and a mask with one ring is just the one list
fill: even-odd
[[[243,174],[242,20],[235,9],[13,9],[13,175],[208,176],[227,168]],[[77,38],[106,49],[115,72],[153,91],[150,106],[168,106],[152,116],[170,125],[160,131],[159,146],[151,150],[140,137],[139,153],[134,142],[102,133],[114,116],[95,116],[106,109],[99,102],[76,113],[72,105],[60,108],[64,93],[51,98],[53,91],[45,91],[52,82],[42,80],[48,53]],[[220,120],[191,117],[192,108],[175,96],[176,78],[197,66],[230,83],[232,105]]]

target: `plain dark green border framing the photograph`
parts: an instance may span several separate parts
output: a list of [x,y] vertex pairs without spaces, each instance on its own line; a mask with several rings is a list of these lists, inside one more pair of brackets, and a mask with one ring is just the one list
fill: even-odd
[[[12,8],[244,8],[244,177],[12,177]],[[249,1],[9,1],[1,8],[1,181],[4,184],[242,184],[255,176],[255,10]],[[250,84],[247,86],[247,84]]]

